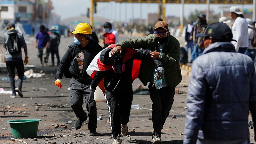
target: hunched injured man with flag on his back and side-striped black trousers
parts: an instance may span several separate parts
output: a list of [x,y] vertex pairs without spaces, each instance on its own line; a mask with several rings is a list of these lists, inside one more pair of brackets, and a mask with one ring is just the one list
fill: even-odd
[[[122,54],[116,52],[114,55],[111,55],[110,51],[115,46],[115,44],[112,44],[103,50],[100,53],[100,58],[93,60],[89,68],[93,67],[95,63],[98,65],[98,71],[96,71],[91,84],[93,92],[104,78],[105,97],[108,105],[112,137],[114,139],[113,144],[121,144],[122,140],[120,137],[124,136],[128,131],[127,123],[129,122],[132,106],[132,81],[136,79],[136,76],[132,76],[134,73],[133,63],[135,63],[133,60],[148,60],[152,63],[155,61],[160,77],[164,75],[164,68],[161,61],[151,58],[151,50],[126,48]],[[136,65],[136,67],[139,66]],[[89,71],[89,68],[86,71]]]

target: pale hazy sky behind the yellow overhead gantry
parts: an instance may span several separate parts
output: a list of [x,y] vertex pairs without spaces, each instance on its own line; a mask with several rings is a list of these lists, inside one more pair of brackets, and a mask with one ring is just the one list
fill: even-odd
[[[87,8],[90,7],[90,0],[52,0],[52,3],[54,6],[53,12],[60,14],[61,19],[85,14],[87,13]],[[230,7],[231,5],[222,4],[221,6]],[[252,8],[252,4],[236,6],[238,6],[240,9]],[[180,9],[181,4],[166,4],[166,16],[180,16]],[[185,4],[185,17],[188,17],[189,13],[194,12],[196,9],[199,11],[206,10],[206,4]],[[218,13],[220,12],[220,5],[211,4],[210,9]],[[141,17],[146,19],[148,17],[148,13],[158,13],[158,4],[98,2],[97,13],[94,15],[105,17],[107,19],[128,21],[132,18],[132,15],[135,19]]]

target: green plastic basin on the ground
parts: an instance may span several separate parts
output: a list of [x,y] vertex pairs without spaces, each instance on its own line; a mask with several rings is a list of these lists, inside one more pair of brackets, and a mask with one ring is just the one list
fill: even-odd
[[38,124],[41,119],[20,119],[7,121],[14,138],[36,138]]

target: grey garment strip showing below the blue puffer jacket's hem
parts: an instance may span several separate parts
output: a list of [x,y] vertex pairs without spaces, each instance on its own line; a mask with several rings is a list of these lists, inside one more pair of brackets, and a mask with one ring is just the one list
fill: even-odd
[[196,144],[250,144],[250,140],[206,140],[197,139]]

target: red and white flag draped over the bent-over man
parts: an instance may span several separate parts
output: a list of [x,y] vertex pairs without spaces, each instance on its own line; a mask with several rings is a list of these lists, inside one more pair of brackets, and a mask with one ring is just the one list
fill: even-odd
[[[116,44],[111,44],[107,48],[113,48],[116,47]],[[103,49],[102,51],[104,51]],[[105,65],[100,61],[100,51],[92,60],[91,64],[88,66],[86,69],[87,74],[93,79],[97,71],[105,71],[112,69],[112,65]],[[132,48],[126,48],[124,52],[124,59],[123,62],[126,62],[129,60],[132,55],[136,52],[137,50],[132,49]],[[140,62],[141,60],[133,60],[133,66],[132,66],[132,80],[134,81],[136,78],[139,76],[139,71],[140,71]],[[98,85],[100,89],[102,90],[103,93],[105,93],[104,89],[104,78],[100,81],[100,84]]]

